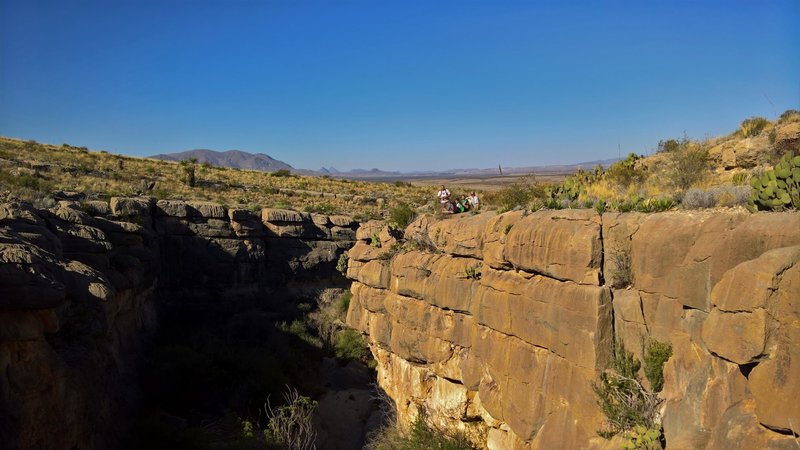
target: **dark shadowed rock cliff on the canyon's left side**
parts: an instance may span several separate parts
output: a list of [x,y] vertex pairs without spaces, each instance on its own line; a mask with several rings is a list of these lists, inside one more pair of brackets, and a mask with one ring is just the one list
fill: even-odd
[[116,448],[161,301],[341,283],[355,225],[149,198],[0,204],[0,447]]

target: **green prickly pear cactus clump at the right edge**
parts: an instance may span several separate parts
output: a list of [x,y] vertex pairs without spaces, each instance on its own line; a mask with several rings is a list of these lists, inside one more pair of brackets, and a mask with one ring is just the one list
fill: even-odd
[[800,155],[783,155],[773,170],[754,177],[753,194],[748,202],[751,211],[758,209],[800,209]]

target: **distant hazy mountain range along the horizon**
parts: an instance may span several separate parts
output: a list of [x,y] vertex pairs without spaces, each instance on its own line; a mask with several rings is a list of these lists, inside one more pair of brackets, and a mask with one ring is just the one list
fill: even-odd
[[[195,158],[198,163],[208,163],[218,167],[232,167],[237,169],[260,170],[264,172],[274,172],[276,170],[289,170],[299,175],[311,176],[331,176],[337,178],[357,178],[357,179],[378,179],[390,177],[439,177],[439,176],[487,176],[500,174],[500,168],[467,168],[449,170],[426,170],[426,171],[387,171],[378,168],[372,169],[351,169],[341,171],[335,167],[321,167],[317,170],[296,169],[290,164],[277,160],[264,153],[248,153],[241,150],[227,150],[218,152],[209,149],[187,150],[177,153],[166,153],[150,156],[153,159],[163,161],[186,161]],[[605,167],[618,161],[619,158],[586,161],[576,164],[556,164],[545,166],[521,166],[521,167],[502,167],[503,174],[522,174],[532,172],[570,172],[579,168],[590,168],[598,164]]]

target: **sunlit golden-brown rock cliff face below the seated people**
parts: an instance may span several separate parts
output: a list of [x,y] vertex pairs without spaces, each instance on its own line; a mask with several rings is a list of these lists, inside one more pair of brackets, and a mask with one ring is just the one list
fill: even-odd
[[652,338],[674,352],[668,448],[796,445],[800,214],[423,218],[399,252],[381,227],[349,252],[347,320],[401,420],[423,407],[488,448],[618,448],[590,383],[615,339],[641,358]]

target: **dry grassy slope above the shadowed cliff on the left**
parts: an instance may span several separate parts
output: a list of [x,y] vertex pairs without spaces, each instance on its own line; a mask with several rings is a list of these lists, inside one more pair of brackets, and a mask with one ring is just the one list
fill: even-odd
[[[196,186],[189,187],[177,163],[0,138],[0,193],[6,191],[26,200],[53,196],[54,191],[79,192],[90,199],[150,195],[208,200],[252,210],[282,207],[372,218],[400,202],[412,207],[424,205],[435,194],[428,187],[410,184],[276,177],[207,165],[197,165],[195,173]],[[34,186],[21,185],[22,181]]]

